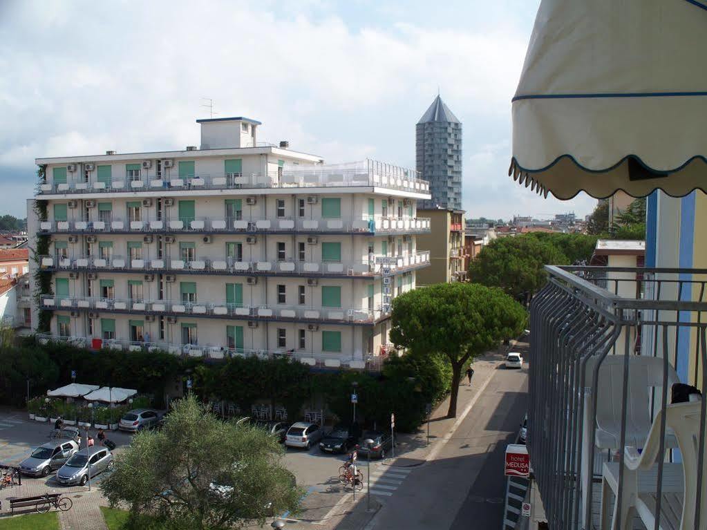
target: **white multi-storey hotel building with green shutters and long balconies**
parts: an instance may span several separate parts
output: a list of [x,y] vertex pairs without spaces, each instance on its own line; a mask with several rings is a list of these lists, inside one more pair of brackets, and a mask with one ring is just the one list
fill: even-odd
[[37,158],[47,216],[29,201],[29,231],[51,237],[38,266],[52,273],[41,338],[378,367],[390,299],[429,264],[415,242],[427,182],[258,143],[252,119],[197,122],[199,149]]

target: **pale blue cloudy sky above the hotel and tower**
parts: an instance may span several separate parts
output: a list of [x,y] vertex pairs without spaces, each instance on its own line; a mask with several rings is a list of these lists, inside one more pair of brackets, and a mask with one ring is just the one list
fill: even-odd
[[463,124],[467,217],[585,216],[508,177],[510,98],[538,0],[0,0],[0,215],[25,217],[43,156],[183,149],[196,119],[329,163],[414,167],[436,97]]

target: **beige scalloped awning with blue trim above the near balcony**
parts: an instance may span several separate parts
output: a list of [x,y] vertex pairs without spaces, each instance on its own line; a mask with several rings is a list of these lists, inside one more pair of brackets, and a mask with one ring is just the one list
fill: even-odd
[[537,192],[707,192],[707,4],[542,0],[509,175]]

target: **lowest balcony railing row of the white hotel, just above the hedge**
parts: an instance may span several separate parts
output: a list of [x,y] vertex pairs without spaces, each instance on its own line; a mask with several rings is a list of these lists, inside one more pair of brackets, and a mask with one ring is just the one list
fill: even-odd
[[347,370],[368,370],[370,372],[380,372],[380,369],[387,358],[385,355],[364,355],[354,353],[312,353],[307,351],[287,351],[287,350],[259,350],[252,348],[225,348],[214,344],[174,344],[164,341],[144,342],[126,341],[119,338],[103,340],[93,337],[80,336],[59,336],[52,334],[37,334],[40,343],[66,342],[78,348],[100,349],[122,351],[166,351],[174,355],[185,357],[205,358],[222,360],[231,357],[258,357],[261,359],[288,358],[308,365],[312,368],[322,369],[347,369]]

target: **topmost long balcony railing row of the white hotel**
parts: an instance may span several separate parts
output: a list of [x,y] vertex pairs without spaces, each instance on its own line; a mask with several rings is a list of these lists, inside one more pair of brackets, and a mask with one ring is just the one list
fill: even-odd
[[228,173],[189,175],[160,179],[111,179],[110,182],[61,182],[40,184],[40,194],[86,194],[101,192],[180,191],[198,189],[319,188],[378,186],[406,192],[428,193],[425,180],[395,175],[380,175],[370,170],[337,171],[298,170],[267,174]]

